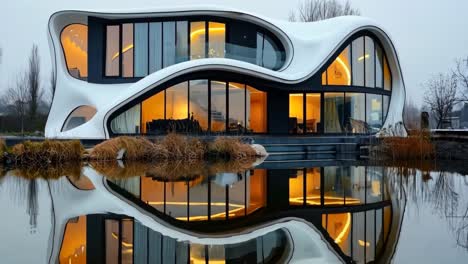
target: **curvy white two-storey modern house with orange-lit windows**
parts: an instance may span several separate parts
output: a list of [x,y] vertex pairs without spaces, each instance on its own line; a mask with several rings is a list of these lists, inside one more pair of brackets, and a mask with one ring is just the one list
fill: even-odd
[[70,10],[51,16],[49,37],[46,137],[406,134],[397,51],[364,17]]

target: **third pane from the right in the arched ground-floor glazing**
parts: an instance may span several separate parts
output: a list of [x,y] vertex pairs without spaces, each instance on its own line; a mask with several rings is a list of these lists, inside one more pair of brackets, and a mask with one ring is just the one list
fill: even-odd
[[211,82],[211,131],[226,130],[226,83]]

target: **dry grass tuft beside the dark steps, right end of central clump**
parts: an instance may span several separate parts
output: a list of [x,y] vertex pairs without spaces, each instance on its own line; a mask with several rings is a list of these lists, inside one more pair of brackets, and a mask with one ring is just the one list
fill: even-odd
[[239,139],[219,137],[208,144],[207,154],[209,157],[242,160],[257,156],[255,150]]

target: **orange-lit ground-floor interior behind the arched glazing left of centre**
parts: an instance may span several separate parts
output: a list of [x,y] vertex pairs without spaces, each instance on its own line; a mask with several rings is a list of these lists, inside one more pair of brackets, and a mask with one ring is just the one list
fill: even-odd
[[266,111],[266,92],[239,83],[191,80],[158,92],[120,114],[111,121],[111,129],[116,134],[265,133]]

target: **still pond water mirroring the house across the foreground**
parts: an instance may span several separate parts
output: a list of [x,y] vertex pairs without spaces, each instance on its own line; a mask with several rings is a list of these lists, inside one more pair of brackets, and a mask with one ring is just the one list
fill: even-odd
[[0,173],[0,263],[468,263],[463,173],[326,165]]

